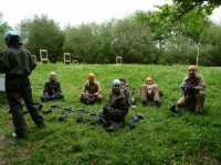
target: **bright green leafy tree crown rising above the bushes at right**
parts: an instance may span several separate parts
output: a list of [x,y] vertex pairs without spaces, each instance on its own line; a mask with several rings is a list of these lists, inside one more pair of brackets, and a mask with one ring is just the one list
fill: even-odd
[[167,37],[173,35],[183,35],[190,37],[192,43],[198,43],[201,31],[211,24],[207,14],[198,8],[179,18],[179,20],[176,20],[177,6],[165,4],[157,8],[158,11],[138,11],[134,16],[137,21],[150,26],[154,40],[158,41],[159,44],[164,44]]

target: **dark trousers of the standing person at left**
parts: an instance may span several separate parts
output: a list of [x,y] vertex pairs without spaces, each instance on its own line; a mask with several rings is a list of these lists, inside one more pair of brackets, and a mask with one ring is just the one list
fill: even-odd
[[12,120],[18,136],[28,132],[27,122],[23,117],[22,99],[35,124],[44,122],[39,109],[32,99],[32,89],[29,77],[6,78],[6,94],[12,112]]

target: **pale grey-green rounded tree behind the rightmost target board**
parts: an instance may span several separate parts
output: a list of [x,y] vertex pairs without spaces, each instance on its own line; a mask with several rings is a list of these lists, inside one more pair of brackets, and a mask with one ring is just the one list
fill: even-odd
[[113,36],[115,56],[123,56],[124,63],[157,63],[157,47],[147,25],[134,18],[119,20]]

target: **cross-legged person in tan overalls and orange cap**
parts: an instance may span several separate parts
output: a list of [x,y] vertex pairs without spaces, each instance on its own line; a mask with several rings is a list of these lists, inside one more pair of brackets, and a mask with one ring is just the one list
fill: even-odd
[[102,100],[102,88],[99,81],[95,80],[93,73],[90,73],[87,78],[88,80],[84,84],[80,100],[85,105],[91,105]]

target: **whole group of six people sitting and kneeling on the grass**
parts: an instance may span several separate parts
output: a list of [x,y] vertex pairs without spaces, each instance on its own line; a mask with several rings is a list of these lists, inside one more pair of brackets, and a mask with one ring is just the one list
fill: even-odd
[[[190,65],[188,67],[188,75],[181,82],[180,88],[183,96],[178,102],[171,107],[172,112],[179,112],[179,108],[192,108],[196,112],[201,113],[204,103],[204,85],[200,75],[197,74],[197,67]],[[80,101],[85,105],[92,105],[102,100],[102,89],[99,81],[95,79],[93,73],[88,74],[88,80],[84,84],[83,90],[80,95]],[[144,85],[139,87],[139,97],[141,106],[147,107],[149,101],[155,102],[157,109],[160,108],[160,97],[162,92],[159,86],[154,84],[151,77],[147,77]],[[50,80],[44,85],[42,101],[63,99],[61,84],[57,81],[56,74],[50,74]],[[106,131],[114,131],[123,128],[125,124],[125,117],[128,108],[135,108],[135,96],[131,87],[124,78],[114,79],[112,81],[112,91],[108,102],[103,107],[103,112],[99,113],[98,119],[93,123],[103,123],[106,125]]]

